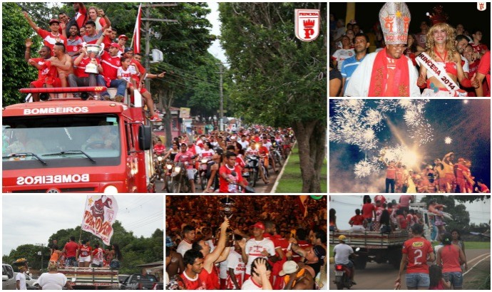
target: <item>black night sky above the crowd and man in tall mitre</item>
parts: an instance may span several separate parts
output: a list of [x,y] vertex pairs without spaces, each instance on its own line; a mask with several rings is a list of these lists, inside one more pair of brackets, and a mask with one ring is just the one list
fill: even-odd
[[[491,48],[491,2],[487,2],[486,11],[478,11],[476,9],[476,2],[468,3],[449,3],[449,2],[434,2],[429,1],[427,3],[409,3],[411,21],[410,21],[410,33],[420,32],[421,21],[427,21],[430,25],[429,17],[426,16],[426,12],[432,14],[434,6],[441,4],[444,6],[444,12],[448,14],[448,23],[456,27],[456,24],[463,24],[465,30],[470,32],[473,28],[480,28],[483,33],[481,43],[485,43],[488,48]],[[371,31],[372,26],[379,19],[379,10],[384,5],[384,2],[379,3],[357,3],[355,6],[355,19],[361,26],[362,31]],[[333,3],[329,4],[329,13],[335,15],[335,19],[344,19],[347,11],[347,3]],[[347,24],[346,24],[347,25]]]

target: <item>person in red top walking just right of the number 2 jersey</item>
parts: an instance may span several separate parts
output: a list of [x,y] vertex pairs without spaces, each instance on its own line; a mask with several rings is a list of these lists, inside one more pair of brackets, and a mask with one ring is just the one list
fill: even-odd
[[461,273],[461,264],[465,264],[468,270],[466,256],[463,250],[452,244],[453,237],[450,233],[444,234],[443,244],[437,251],[436,263],[443,268],[443,278],[446,278],[453,285],[454,290],[461,290],[463,286],[463,274]]

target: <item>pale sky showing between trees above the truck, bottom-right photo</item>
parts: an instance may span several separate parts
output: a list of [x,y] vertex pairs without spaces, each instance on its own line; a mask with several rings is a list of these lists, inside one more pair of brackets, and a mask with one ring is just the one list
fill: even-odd
[[[329,196],[328,207],[335,209],[337,211],[337,226],[339,229],[349,229],[349,220],[355,215],[355,209],[362,208],[362,198],[363,195],[359,196],[345,196],[345,195],[331,195]],[[371,195],[371,199],[374,202],[374,195]],[[386,195],[386,201],[391,201],[395,199],[396,202],[399,201],[399,195]],[[424,196],[417,195],[416,201],[420,202],[421,198]],[[455,204],[463,204],[455,201]],[[478,201],[473,203],[465,203],[466,211],[470,214],[470,223],[480,224],[488,223],[491,219],[491,200],[488,199],[484,202]],[[446,209],[444,209],[446,212]],[[451,214],[452,215],[452,214]]]

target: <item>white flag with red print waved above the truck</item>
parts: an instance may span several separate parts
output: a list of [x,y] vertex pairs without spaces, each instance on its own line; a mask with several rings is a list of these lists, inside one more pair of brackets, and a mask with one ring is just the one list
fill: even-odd
[[115,197],[106,195],[87,196],[83,212],[82,230],[98,236],[109,245],[113,236],[113,222],[118,213]]

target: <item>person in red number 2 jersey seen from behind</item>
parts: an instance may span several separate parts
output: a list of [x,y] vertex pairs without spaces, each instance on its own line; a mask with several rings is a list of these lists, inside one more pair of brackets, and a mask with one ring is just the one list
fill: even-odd
[[[409,289],[429,290],[429,266],[427,260],[434,261],[434,251],[431,243],[422,237],[424,232],[420,224],[411,227],[412,239],[403,244],[400,271],[395,283],[401,285],[401,274],[406,265],[406,287]],[[429,257],[429,259],[428,259]]]

